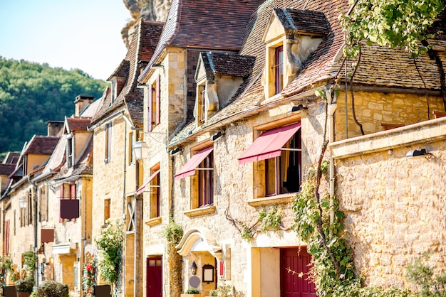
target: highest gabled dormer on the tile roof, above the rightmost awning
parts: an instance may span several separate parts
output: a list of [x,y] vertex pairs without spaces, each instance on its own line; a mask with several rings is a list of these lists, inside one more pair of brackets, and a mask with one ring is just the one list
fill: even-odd
[[274,9],[262,41],[266,45],[265,97],[279,94],[304,68],[306,59],[328,34],[328,21],[318,11]]

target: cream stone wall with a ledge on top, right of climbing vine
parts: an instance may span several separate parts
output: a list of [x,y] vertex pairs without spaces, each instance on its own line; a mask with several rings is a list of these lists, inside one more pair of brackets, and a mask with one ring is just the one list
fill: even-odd
[[[446,269],[446,118],[333,144],[337,195],[358,274],[374,286],[410,286],[424,253]],[[413,149],[426,156],[406,158]]]

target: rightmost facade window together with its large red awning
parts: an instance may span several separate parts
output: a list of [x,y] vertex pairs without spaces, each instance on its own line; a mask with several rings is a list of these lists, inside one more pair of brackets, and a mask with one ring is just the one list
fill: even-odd
[[299,192],[301,186],[301,123],[264,131],[239,156],[256,162],[256,197]]

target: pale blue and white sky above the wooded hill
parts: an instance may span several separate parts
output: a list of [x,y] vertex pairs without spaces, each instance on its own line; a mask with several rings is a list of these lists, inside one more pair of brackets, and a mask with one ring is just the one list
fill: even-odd
[[0,0],[0,56],[106,80],[127,52],[123,0]]

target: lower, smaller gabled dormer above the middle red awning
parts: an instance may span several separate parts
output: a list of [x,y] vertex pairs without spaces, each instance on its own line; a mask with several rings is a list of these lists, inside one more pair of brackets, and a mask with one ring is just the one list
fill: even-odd
[[194,117],[202,125],[235,95],[244,78],[251,74],[255,58],[235,53],[203,52],[199,54],[195,82]]

